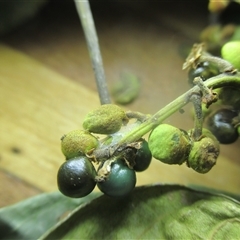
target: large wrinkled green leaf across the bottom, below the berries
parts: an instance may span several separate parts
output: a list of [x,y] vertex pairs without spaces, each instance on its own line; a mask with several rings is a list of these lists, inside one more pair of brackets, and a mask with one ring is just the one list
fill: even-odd
[[101,196],[40,239],[240,239],[240,204],[177,185]]

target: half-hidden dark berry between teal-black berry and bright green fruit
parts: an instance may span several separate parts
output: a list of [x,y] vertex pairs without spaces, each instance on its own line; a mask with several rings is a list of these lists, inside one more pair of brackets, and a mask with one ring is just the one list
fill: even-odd
[[148,147],[148,142],[146,140],[142,140],[142,146],[140,149],[137,150],[135,156],[135,165],[133,169],[137,172],[142,172],[146,170],[152,160],[152,153]]

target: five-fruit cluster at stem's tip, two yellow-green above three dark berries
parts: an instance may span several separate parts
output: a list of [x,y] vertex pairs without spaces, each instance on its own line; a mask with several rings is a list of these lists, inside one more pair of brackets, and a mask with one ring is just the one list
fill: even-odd
[[91,193],[97,185],[108,196],[122,197],[134,189],[136,171],[148,168],[152,154],[144,139],[121,150],[112,150],[124,132],[139,124],[136,121],[126,126],[128,120],[120,107],[102,105],[86,116],[84,130],[73,130],[61,138],[66,161],[57,175],[60,192],[80,198]]

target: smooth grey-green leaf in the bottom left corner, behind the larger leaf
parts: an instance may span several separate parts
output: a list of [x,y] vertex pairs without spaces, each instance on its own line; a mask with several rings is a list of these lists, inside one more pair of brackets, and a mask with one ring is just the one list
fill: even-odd
[[77,206],[99,196],[72,199],[60,192],[44,193],[0,209],[0,239],[37,239]]

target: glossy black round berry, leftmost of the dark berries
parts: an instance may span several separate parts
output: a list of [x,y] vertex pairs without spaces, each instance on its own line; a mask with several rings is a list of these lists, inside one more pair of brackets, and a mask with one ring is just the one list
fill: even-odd
[[59,191],[72,198],[84,197],[93,191],[95,176],[96,170],[87,157],[69,159],[58,170]]

